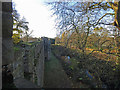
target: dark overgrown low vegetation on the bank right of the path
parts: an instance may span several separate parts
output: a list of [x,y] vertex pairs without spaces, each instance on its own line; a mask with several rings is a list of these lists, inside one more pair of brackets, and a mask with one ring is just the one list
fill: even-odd
[[[59,45],[53,45],[52,51],[59,58],[74,86],[80,88],[81,83],[89,88],[118,88],[120,87],[119,67],[115,60],[106,61],[102,58],[89,56],[81,57],[81,53]],[[65,58],[69,56],[68,60]],[[84,87],[86,88],[86,86]]]

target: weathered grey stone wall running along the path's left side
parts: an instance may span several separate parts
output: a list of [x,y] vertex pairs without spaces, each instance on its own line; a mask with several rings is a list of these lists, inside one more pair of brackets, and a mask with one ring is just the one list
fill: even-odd
[[[47,48],[45,49],[45,47]],[[42,38],[39,42],[19,48],[20,50],[14,52],[14,79],[26,78],[42,87],[44,82],[44,60],[50,57],[50,40]]]

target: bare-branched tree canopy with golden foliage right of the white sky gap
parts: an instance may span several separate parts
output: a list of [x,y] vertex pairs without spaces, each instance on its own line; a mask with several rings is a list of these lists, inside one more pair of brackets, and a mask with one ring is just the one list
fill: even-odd
[[[59,38],[62,38],[61,43],[64,43],[63,45],[70,46],[71,43],[69,42],[72,40],[72,43],[76,44],[84,52],[86,47],[89,46],[90,37],[94,36],[96,41],[93,42],[98,50],[101,50],[107,44],[107,46],[112,46],[113,44],[116,47],[120,46],[118,41],[120,37],[120,1],[63,1],[49,2],[48,5],[51,5],[51,10],[54,12],[53,15],[57,16],[56,26],[62,32],[59,33]],[[74,37],[75,39],[72,39]],[[110,42],[110,38],[114,40],[114,43]]]

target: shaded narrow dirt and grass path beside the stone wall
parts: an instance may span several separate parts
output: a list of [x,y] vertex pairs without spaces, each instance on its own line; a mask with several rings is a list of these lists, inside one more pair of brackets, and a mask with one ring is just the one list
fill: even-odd
[[72,88],[72,82],[52,53],[50,61],[45,62],[44,88]]

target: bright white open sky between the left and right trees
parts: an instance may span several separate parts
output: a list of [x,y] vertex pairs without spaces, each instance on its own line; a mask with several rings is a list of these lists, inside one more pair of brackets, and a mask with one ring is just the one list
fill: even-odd
[[15,2],[15,8],[20,16],[24,16],[29,22],[29,29],[33,30],[32,37],[56,36],[55,17],[51,17],[52,11],[43,0],[12,0],[12,2]]

